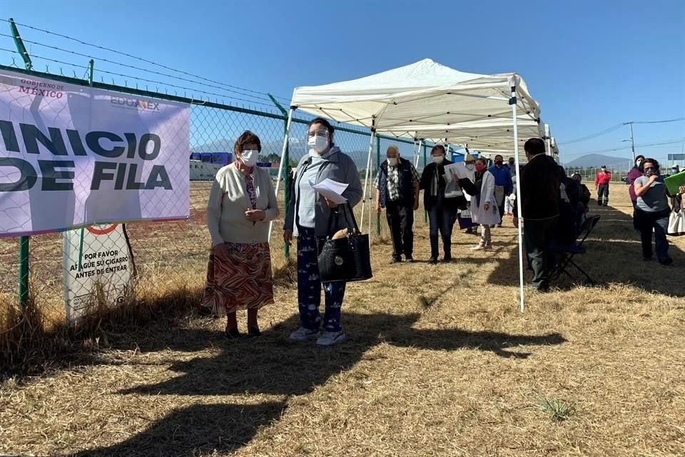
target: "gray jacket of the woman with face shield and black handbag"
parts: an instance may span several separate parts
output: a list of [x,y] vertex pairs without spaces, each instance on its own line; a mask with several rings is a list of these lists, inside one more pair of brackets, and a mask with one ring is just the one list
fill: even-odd
[[[304,171],[312,164],[311,156],[307,155],[300,159],[298,168],[295,171],[295,179],[293,184],[293,191],[290,192],[290,201],[288,201],[287,216],[285,217],[285,226],[283,229],[292,229],[293,236],[298,236],[298,220],[299,220],[299,204],[300,204],[300,180]],[[333,146],[330,149],[330,155],[325,163],[319,169],[316,176],[316,183],[318,184],[324,179],[332,179],[340,183],[347,184],[347,189],[342,193],[342,196],[347,199],[347,202],[355,207],[362,200],[362,181],[359,179],[359,171],[355,162],[350,156],[343,154],[338,146]],[[331,231],[335,233],[340,229],[345,229],[347,223],[342,216],[338,217],[338,209],[330,209],[328,204],[320,197],[316,201],[315,207],[315,236],[317,238],[325,238],[332,235],[328,233],[328,221],[333,212],[333,225]]]

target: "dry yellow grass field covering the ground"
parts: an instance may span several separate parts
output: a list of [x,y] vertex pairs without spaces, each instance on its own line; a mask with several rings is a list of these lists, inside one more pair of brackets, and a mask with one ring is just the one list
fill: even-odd
[[[226,341],[222,321],[191,313],[103,324],[45,373],[0,385],[0,453],[683,456],[685,240],[671,238],[674,266],[644,263],[620,185],[611,203],[592,206],[602,220],[577,257],[599,286],[527,290],[524,313],[509,219],[487,253],[455,233],[450,264],[390,266],[377,243],[375,276],[347,289],[348,340],[333,348],[287,341],[296,287],[277,255],[258,340]],[[179,249],[167,232],[132,229],[154,278],[138,293],[193,301],[206,246],[188,237]],[[418,224],[417,259],[427,245]]]

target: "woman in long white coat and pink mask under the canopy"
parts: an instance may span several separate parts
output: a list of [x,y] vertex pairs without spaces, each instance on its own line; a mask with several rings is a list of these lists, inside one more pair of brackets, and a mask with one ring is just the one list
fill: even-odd
[[494,176],[487,171],[485,159],[476,160],[475,198],[471,200],[471,217],[480,224],[480,241],[471,248],[472,251],[489,250],[490,226],[502,223],[499,217],[497,199],[494,196]]

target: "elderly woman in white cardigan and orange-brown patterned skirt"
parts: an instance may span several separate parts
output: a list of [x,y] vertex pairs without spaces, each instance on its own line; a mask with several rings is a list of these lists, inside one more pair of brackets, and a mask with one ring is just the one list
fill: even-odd
[[273,303],[269,222],[278,204],[268,171],[258,168],[262,150],[250,131],[235,142],[233,164],[216,174],[207,205],[212,250],[202,306],[226,314],[226,336],[240,337],[235,311],[248,310],[248,335],[260,336],[257,311]]

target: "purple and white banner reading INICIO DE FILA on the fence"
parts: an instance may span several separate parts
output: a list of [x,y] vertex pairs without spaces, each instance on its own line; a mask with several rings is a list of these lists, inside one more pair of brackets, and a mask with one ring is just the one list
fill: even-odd
[[190,215],[190,107],[0,71],[0,236]]

